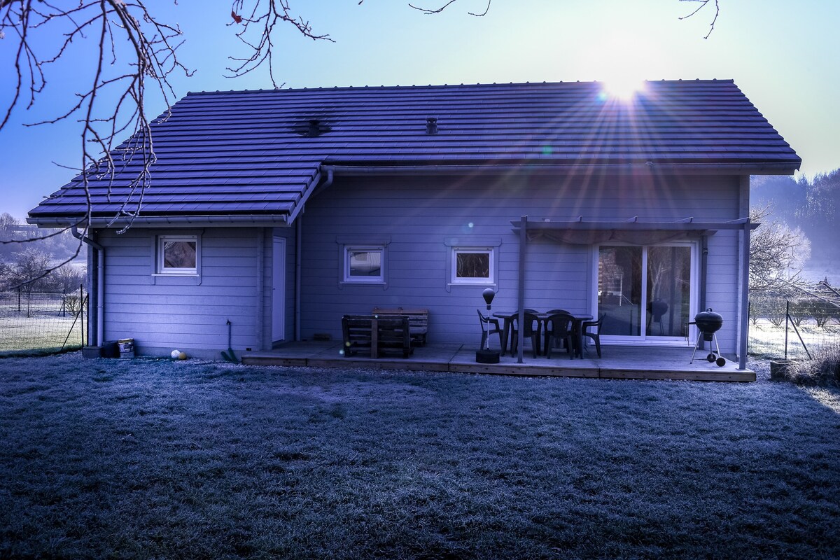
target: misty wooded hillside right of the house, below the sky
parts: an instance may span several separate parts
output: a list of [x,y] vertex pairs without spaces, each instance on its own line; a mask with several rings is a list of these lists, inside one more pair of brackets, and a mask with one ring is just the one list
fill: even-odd
[[840,258],[840,169],[797,179],[788,175],[753,176],[750,206],[769,208],[769,219],[800,228],[811,240],[812,259]]

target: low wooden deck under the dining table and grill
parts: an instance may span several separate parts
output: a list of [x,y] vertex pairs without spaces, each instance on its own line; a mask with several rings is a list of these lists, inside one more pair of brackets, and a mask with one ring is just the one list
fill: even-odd
[[693,345],[680,348],[604,346],[599,359],[595,348],[584,359],[570,360],[558,351],[551,359],[533,359],[526,352],[522,364],[516,357],[502,356],[499,364],[478,364],[475,350],[467,344],[430,343],[415,348],[407,359],[370,359],[365,356],[345,358],[340,342],[290,343],[270,352],[250,352],[243,364],[310,366],[319,368],[414,369],[467,374],[553,375],[598,379],[691,379],[698,381],[754,381],[755,372],[738,369],[738,362],[725,356],[723,367],[706,361],[706,352],[697,350],[694,364],[689,364]]

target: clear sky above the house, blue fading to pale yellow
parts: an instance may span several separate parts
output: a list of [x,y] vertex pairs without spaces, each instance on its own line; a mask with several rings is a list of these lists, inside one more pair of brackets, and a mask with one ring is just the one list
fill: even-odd
[[[429,0],[418,5],[437,7]],[[150,0],[160,19],[181,26],[181,62],[195,70],[176,76],[176,94],[271,87],[267,72],[224,77],[234,39],[229,0]],[[720,0],[714,32],[704,39],[713,6],[678,0],[459,0],[444,13],[424,15],[402,0],[291,0],[316,33],[313,42],[289,26],[277,35],[276,76],[286,87],[379,86],[520,81],[734,79],[759,111],[801,155],[806,175],[840,167],[840,2],[834,0]],[[0,101],[12,92],[10,42],[0,40]],[[24,128],[55,117],[85,74],[76,55],[51,69],[34,107],[19,107],[0,132],[3,159],[0,212],[24,217],[78,167],[77,123]],[[149,113],[164,110],[160,100]]]

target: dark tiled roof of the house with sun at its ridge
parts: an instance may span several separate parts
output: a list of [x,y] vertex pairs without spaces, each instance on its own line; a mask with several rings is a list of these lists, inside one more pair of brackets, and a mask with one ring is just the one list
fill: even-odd
[[[630,102],[606,97],[601,86],[190,93],[152,125],[157,161],[139,215],[291,222],[331,169],[423,174],[654,165],[748,175],[790,174],[801,164],[730,80],[650,81]],[[437,118],[437,133],[427,132],[429,117]],[[118,171],[110,201],[108,179],[90,178],[94,217],[137,209],[138,193],[130,191],[137,160]],[[80,176],[29,212],[29,221],[46,224],[86,211]]]

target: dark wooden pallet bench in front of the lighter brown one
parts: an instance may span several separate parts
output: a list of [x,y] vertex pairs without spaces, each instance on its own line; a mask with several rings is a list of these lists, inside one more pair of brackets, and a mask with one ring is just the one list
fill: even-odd
[[370,358],[385,354],[412,355],[411,327],[408,317],[377,317],[375,315],[345,315],[341,317],[344,332],[344,355],[370,353]]

